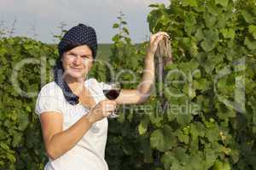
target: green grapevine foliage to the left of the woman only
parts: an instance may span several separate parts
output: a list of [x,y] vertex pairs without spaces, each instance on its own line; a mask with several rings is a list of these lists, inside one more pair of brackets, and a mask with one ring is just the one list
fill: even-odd
[[[18,71],[17,81],[25,92],[41,88],[40,63],[49,62],[56,56],[55,48],[25,37],[0,40],[0,169],[42,169],[46,161],[42,143],[40,122],[34,113],[36,97],[20,95],[12,84],[17,65],[23,59],[31,59]],[[45,81],[49,82],[49,74]]]

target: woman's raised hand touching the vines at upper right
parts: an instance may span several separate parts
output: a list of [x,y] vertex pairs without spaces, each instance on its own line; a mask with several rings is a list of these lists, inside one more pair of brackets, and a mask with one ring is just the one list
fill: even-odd
[[164,31],[159,31],[159,32],[153,34],[150,37],[150,40],[148,42],[148,50],[147,50],[148,55],[154,55],[155,54],[158,43],[160,42],[160,40],[163,39],[163,37],[168,37],[169,38],[170,36]]

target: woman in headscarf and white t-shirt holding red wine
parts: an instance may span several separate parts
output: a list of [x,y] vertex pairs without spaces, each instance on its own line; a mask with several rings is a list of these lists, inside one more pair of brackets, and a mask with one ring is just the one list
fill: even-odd
[[[90,26],[74,26],[58,45],[55,82],[38,94],[36,113],[40,117],[44,145],[49,156],[45,170],[107,170],[104,159],[108,119],[116,105],[142,104],[154,85],[154,53],[166,32],[150,37],[143,79],[137,89],[121,89],[108,100],[102,94],[104,82],[84,80],[96,58],[96,32]],[[132,96],[132,97],[131,97]]]

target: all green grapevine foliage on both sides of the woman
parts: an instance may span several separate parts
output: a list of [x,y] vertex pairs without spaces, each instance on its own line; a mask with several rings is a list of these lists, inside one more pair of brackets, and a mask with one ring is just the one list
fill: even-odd
[[[172,0],[169,7],[152,8],[150,31],[167,31],[172,37],[174,64],[165,71],[179,73],[166,76],[163,84],[156,82],[146,104],[123,105],[119,119],[109,120],[109,169],[255,170],[255,0]],[[142,76],[147,42],[133,44],[125,26],[119,16],[109,61],[115,71],[126,70],[118,80],[131,81],[129,71]],[[55,57],[56,49],[41,42],[24,37],[0,40],[0,169],[43,169],[47,161],[40,122],[33,113],[36,97],[18,94],[10,75],[22,59],[35,59],[18,72],[18,82],[24,91],[38,92],[43,85],[41,65],[46,63],[43,80],[51,81]],[[90,72],[98,81],[109,81],[109,75],[100,61]],[[139,81],[124,83],[123,88],[136,88]],[[228,100],[236,106],[227,105]],[[188,104],[200,110],[162,109],[163,102],[171,108]],[[143,110],[145,105],[153,110]]]

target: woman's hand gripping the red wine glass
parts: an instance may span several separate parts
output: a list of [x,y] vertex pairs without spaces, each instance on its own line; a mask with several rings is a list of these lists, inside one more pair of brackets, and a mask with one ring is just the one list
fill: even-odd
[[94,123],[110,116],[116,109],[116,101],[104,99],[94,106],[89,113],[89,122]]

